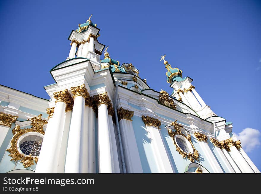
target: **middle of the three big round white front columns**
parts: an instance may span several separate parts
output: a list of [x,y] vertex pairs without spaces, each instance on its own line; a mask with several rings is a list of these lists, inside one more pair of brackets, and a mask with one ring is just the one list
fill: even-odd
[[82,162],[83,119],[85,97],[74,97],[65,162],[65,173],[80,173]]

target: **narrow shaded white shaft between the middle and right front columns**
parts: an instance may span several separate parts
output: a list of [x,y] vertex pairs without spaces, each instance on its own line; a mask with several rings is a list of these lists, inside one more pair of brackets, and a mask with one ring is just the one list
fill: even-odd
[[89,173],[96,173],[96,155],[95,155],[95,128],[94,128],[95,112],[89,107],[88,119],[88,164]]

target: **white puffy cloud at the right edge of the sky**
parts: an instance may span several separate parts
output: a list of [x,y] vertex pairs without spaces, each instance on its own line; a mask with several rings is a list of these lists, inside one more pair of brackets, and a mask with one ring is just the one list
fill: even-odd
[[245,128],[239,133],[238,139],[246,152],[251,152],[260,146],[260,134],[260,131],[252,128]]

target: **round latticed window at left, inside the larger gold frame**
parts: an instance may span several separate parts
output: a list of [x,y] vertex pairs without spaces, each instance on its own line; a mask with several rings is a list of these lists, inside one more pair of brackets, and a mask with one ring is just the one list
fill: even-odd
[[39,156],[43,142],[41,133],[29,132],[23,134],[17,141],[17,149],[21,154]]

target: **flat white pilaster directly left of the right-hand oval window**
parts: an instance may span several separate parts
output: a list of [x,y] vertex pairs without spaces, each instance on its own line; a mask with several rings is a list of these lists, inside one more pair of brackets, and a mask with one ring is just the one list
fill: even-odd
[[146,125],[149,132],[149,138],[155,154],[155,160],[158,165],[159,173],[174,173],[171,162],[168,158],[166,148],[163,143],[163,139],[160,133],[160,129],[154,126]]

